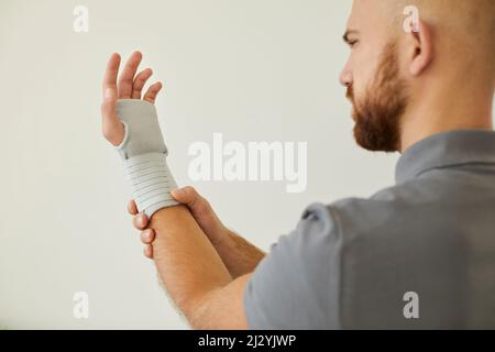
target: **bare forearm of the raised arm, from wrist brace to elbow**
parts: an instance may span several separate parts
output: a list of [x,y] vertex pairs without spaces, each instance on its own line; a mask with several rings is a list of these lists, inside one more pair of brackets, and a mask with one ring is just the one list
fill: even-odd
[[150,222],[162,283],[190,321],[198,302],[232,282],[219,254],[185,206],[163,208]]

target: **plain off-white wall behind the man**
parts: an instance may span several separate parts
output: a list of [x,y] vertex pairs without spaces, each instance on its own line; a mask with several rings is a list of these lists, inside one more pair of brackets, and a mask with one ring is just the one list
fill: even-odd
[[[89,9],[89,33],[73,10]],[[341,36],[351,1],[0,2],[0,328],[187,328],[142,255],[118,154],[100,134],[100,82],[112,52],[144,54],[169,165],[226,224],[264,250],[306,206],[394,184],[398,154],[359,148]],[[308,187],[191,183],[188,146],[308,142]],[[359,216],[359,215],[356,215]],[[75,292],[89,319],[73,317]]]

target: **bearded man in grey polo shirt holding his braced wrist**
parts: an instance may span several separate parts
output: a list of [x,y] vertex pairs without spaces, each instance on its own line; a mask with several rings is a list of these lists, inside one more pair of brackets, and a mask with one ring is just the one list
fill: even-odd
[[[415,31],[404,9],[415,6]],[[341,84],[354,136],[399,152],[396,185],[367,199],[314,204],[265,254],[186,187],[147,221],[145,254],[193,328],[495,328],[495,2],[354,0]],[[107,69],[103,134],[116,100],[140,99],[151,72]],[[135,76],[135,77],[134,77]],[[160,85],[144,99],[154,102]]]

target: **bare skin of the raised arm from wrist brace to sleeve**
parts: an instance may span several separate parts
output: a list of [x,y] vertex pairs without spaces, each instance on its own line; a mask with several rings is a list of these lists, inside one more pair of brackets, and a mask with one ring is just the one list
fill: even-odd
[[185,206],[153,215],[153,253],[162,282],[194,329],[248,329],[243,293],[252,274],[232,279]]

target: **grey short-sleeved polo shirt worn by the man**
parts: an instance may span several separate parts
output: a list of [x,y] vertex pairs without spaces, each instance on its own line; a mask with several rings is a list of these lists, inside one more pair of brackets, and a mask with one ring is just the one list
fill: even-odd
[[395,186],[309,206],[244,308],[251,329],[495,328],[495,132],[429,136]]

